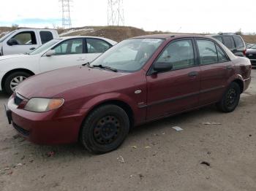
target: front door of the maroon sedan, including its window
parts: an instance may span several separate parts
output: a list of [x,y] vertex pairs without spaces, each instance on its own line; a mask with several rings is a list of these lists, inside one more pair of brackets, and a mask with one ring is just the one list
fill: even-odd
[[[173,69],[150,74],[147,79],[147,120],[175,114],[198,105],[200,69],[192,39],[170,42],[154,63]],[[154,64],[153,64],[154,66]]]

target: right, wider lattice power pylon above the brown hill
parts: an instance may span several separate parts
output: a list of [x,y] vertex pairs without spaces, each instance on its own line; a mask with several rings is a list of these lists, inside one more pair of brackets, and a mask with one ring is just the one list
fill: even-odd
[[124,26],[124,1],[108,0],[108,26]]

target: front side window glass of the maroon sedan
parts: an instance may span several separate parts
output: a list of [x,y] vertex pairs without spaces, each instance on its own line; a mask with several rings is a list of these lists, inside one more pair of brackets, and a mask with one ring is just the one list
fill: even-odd
[[157,63],[173,64],[173,70],[194,65],[194,50],[191,40],[171,42],[157,59]]

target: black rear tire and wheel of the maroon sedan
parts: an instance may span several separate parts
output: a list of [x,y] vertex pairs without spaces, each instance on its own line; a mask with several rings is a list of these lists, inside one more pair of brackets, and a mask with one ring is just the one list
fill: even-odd
[[232,82],[224,95],[222,96],[222,100],[217,103],[217,108],[222,112],[233,112],[238,106],[240,100],[240,86],[236,82]]

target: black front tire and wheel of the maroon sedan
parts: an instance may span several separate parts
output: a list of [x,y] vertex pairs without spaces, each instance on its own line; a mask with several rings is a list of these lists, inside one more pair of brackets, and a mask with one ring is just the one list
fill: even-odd
[[129,133],[129,117],[116,105],[103,105],[94,109],[80,130],[80,142],[94,154],[117,149]]

